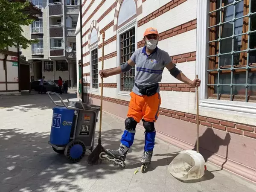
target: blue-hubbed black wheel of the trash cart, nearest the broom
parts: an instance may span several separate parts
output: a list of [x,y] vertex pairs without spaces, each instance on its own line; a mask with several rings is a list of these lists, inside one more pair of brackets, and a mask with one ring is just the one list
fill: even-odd
[[67,144],[64,154],[72,163],[80,161],[85,154],[86,148],[81,140],[73,140]]

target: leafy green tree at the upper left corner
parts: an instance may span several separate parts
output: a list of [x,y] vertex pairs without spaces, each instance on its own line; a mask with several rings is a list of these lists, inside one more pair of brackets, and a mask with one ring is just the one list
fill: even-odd
[[22,47],[26,49],[38,40],[29,40],[22,33],[22,25],[30,25],[34,21],[29,18],[29,14],[24,10],[30,6],[28,1],[12,2],[0,0],[0,50],[10,47]]

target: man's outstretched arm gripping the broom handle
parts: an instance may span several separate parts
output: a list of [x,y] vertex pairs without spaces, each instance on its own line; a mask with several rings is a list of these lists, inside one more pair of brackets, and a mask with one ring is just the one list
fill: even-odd
[[121,66],[116,67],[114,70],[112,71],[101,71],[99,73],[100,77],[109,77],[109,76],[114,76],[117,74],[120,74],[122,72],[126,72],[131,70],[131,68],[135,65],[134,61],[132,61],[131,59],[129,59],[125,64],[122,64]]

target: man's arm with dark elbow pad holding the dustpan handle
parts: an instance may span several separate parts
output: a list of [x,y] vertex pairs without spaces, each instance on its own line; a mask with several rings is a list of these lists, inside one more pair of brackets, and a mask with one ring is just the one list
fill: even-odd
[[193,87],[200,86],[201,80],[199,79],[195,79],[193,81],[190,80],[180,70],[176,68],[175,64],[173,64],[172,61],[169,64],[166,64],[165,67],[170,71],[172,76],[182,81],[183,83],[189,84],[190,86],[193,86]]

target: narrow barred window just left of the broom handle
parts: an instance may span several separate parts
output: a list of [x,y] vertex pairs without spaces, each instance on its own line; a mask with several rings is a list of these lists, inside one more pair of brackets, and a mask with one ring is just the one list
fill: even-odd
[[[99,88],[99,74],[98,74],[98,49],[92,50],[92,88]],[[102,88],[103,89],[103,88]]]

